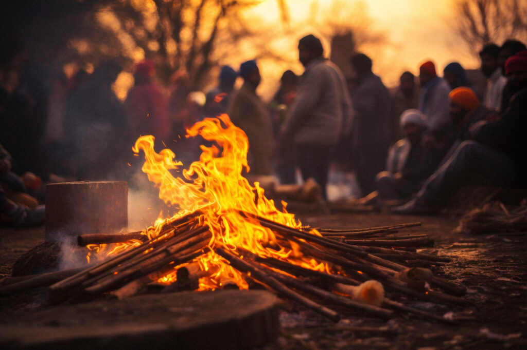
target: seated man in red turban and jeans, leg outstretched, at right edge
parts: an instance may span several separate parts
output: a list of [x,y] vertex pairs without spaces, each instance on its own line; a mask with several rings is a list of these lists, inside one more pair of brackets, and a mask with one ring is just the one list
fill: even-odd
[[394,208],[395,213],[434,213],[463,184],[527,185],[527,50],[505,62],[505,74],[515,93],[503,117],[476,122],[470,129],[472,140],[462,142],[417,197]]

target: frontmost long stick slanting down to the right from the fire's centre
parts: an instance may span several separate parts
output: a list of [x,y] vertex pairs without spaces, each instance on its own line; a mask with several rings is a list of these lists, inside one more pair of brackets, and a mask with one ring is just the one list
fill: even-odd
[[262,271],[258,267],[248,264],[247,262],[243,261],[237,256],[228,253],[227,251],[221,248],[217,248],[215,252],[218,255],[222,256],[222,258],[226,259],[232,265],[232,267],[241,272],[250,273],[253,279],[256,279],[266,284],[271,289],[275,290],[278,294],[286,296],[291,300],[294,300],[310,308],[311,310],[329,318],[331,321],[337,322],[340,320],[340,315],[337,312],[331,310],[330,308],[327,308],[326,306],[315,303],[314,301],[298,294],[295,291],[292,291],[287,286],[276,280],[274,277],[269,276],[268,272]]

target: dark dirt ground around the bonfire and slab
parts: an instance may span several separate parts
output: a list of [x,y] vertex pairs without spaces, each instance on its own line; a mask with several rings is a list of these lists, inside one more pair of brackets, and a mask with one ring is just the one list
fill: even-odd
[[[421,221],[405,233],[427,233],[435,240],[433,253],[452,258],[437,275],[467,288],[466,305],[406,301],[455,321],[446,324],[412,315],[389,321],[347,316],[338,323],[305,310],[280,312],[280,336],[265,349],[525,349],[527,348],[527,234],[457,235],[460,217],[403,217],[388,213],[298,215],[312,227],[367,228]],[[0,228],[0,277],[13,263],[44,241],[44,227]],[[0,297],[0,313],[50,308],[43,293]]]

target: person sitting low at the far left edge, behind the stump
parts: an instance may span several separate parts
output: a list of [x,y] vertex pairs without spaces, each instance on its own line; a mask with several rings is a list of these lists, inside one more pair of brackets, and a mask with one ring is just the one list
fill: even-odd
[[44,223],[45,206],[27,194],[22,179],[11,171],[11,155],[0,145],[0,214],[8,225],[23,227]]

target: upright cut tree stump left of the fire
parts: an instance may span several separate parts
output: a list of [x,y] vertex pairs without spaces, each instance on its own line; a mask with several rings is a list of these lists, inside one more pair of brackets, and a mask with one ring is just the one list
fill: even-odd
[[60,182],[46,186],[46,241],[128,226],[126,181]]

